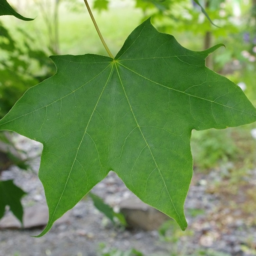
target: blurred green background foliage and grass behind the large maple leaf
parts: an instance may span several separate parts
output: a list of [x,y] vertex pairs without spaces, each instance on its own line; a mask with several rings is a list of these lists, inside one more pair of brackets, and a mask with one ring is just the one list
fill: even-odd
[[[55,73],[49,55],[106,55],[82,0],[8,2],[19,13],[36,19],[25,22],[0,17],[0,118],[25,90]],[[120,50],[132,30],[149,17],[159,31],[174,35],[190,50],[225,44],[207,58],[206,65],[238,84],[256,106],[256,0],[199,2],[214,25],[193,0],[91,0],[89,4],[113,54]],[[11,137],[0,134],[0,146],[9,145],[0,147],[1,170],[10,164],[17,165],[17,161],[21,165],[19,159],[25,161],[13,153],[15,144]],[[221,190],[221,184],[229,189],[225,183],[228,180],[229,193],[235,193],[244,177],[250,178],[251,170],[255,169],[256,125],[193,131],[191,148],[195,173],[214,170],[220,177],[215,189]]]

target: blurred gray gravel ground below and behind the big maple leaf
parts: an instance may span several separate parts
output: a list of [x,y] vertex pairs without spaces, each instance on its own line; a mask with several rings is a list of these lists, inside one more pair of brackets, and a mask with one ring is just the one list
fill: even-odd
[[[15,184],[28,193],[22,199],[24,207],[44,204],[44,191],[37,177],[40,158],[36,157],[42,148],[22,137],[17,138],[17,143],[29,152],[29,157],[35,157],[34,171],[12,167],[2,173],[2,178],[14,179]],[[254,174],[250,180],[253,185],[256,184],[256,171]],[[255,212],[245,216],[242,209],[228,207],[228,197],[213,193],[210,185],[218,179],[217,175],[216,171],[195,173],[185,204],[189,224],[185,233],[173,225],[165,237],[161,237],[158,231],[125,230],[109,222],[92,201],[85,198],[69,211],[67,222],[55,224],[43,237],[31,237],[42,229],[0,230],[0,256],[98,256],[103,255],[101,243],[105,243],[105,250],[135,248],[146,256],[256,255],[256,226],[252,224],[256,223],[252,221]],[[110,172],[92,191],[114,207],[131,195],[114,172]],[[236,196],[242,198],[243,191],[238,191]]]

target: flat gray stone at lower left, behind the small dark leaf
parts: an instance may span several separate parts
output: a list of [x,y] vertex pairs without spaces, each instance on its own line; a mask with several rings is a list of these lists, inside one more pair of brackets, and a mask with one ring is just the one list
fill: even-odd
[[[69,212],[64,214],[55,223],[61,224],[68,222]],[[24,209],[23,214],[23,228],[33,229],[37,227],[44,227],[48,222],[48,207],[45,204],[35,204],[34,206]],[[8,212],[0,220],[0,229],[21,229],[21,223],[13,215],[12,212]]]

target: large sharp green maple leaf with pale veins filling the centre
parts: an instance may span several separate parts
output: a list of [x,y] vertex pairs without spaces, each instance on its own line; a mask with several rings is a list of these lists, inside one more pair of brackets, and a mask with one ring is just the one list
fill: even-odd
[[0,121],[1,130],[44,145],[39,178],[49,221],[40,235],[110,170],[145,203],[187,227],[191,130],[256,121],[243,91],[205,66],[218,47],[187,50],[147,20],[114,60],[51,57],[57,73],[27,90]]

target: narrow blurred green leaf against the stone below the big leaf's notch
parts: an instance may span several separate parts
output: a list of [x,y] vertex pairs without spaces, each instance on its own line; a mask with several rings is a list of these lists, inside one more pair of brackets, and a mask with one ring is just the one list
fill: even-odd
[[111,208],[108,204],[105,204],[101,197],[98,197],[91,192],[88,193],[88,195],[92,199],[94,206],[103,214],[105,214],[105,216],[107,216],[107,218],[109,218],[113,223],[115,223],[115,218],[118,218],[122,225],[127,225],[124,215],[122,213],[114,212],[113,208]]

